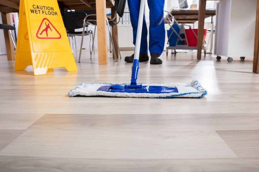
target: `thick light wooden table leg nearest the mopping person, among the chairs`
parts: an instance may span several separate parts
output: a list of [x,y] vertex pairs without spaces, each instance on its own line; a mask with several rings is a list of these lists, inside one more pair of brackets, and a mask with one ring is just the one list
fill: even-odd
[[99,64],[108,63],[106,36],[106,0],[96,1],[97,39]]

